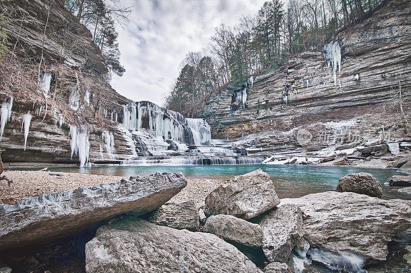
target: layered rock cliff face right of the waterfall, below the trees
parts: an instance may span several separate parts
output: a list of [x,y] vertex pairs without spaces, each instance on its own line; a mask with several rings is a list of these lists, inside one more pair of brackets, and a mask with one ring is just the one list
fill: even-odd
[[[304,51],[280,71],[257,75],[245,103],[236,100],[245,86],[218,90],[201,116],[214,136],[238,137],[264,126],[292,128],[307,114],[321,120],[331,111],[396,102],[400,85],[405,100],[411,85],[410,14],[409,1],[390,1],[322,50]],[[336,119],[347,111],[340,113]]]

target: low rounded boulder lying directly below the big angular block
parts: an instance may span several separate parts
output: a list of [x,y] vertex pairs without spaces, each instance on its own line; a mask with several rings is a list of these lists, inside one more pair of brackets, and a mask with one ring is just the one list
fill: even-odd
[[263,244],[263,230],[259,225],[231,215],[210,216],[202,232],[212,233],[224,240],[255,248]]

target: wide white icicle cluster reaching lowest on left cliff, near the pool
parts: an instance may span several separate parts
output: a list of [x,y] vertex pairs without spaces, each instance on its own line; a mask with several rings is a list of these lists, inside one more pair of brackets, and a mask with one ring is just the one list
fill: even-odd
[[90,142],[88,142],[88,132],[80,132],[76,125],[70,126],[70,148],[71,158],[73,155],[79,155],[80,167],[84,167],[88,162],[88,155],[90,152]]

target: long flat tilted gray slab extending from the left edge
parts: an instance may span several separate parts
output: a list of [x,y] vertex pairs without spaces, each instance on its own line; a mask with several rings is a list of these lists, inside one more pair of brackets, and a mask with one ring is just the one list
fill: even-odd
[[146,214],[186,184],[181,173],[157,173],[134,182],[122,179],[0,205],[0,250],[67,237],[119,214]]

